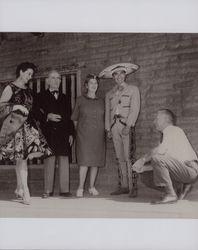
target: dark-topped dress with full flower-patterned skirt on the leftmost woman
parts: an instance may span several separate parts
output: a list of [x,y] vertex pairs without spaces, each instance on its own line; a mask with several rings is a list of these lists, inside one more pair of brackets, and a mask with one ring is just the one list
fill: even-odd
[[18,159],[27,159],[40,156],[50,156],[51,149],[32,117],[33,97],[31,89],[22,89],[10,83],[12,97],[9,103],[23,105],[29,111],[29,115],[15,135],[4,145],[0,145],[0,153],[3,160],[15,162]]

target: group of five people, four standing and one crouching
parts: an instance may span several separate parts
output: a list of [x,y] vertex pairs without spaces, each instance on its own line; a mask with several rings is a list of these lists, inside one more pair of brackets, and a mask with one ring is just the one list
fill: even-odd
[[[131,173],[153,167],[154,187],[164,191],[157,204],[176,202],[191,190],[198,176],[198,159],[184,131],[175,125],[171,110],[160,109],[154,124],[162,133],[159,146],[133,165],[130,159],[131,131],[140,112],[137,86],[128,84],[126,76],[139,69],[132,63],[119,63],[104,69],[98,76],[88,74],[86,93],[78,97],[75,108],[60,90],[61,75],[57,70],[48,74],[48,89],[33,96],[29,81],[36,71],[33,63],[18,65],[16,80],[9,83],[0,98],[0,155],[16,164],[15,194],[30,204],[28,159],[44,158],[43,198],[54,195],[56,164],[59,166],[59,195],[71,196],[69,185],[69,152],[76,139],[79,166],[77,197],[83,197],[88,169],[89,193],[99,195],[95,187],[98,169],[105,166],[105,136],[112,138],[118,160],[118,188],[111,195],[129,193]],[[105,96],[97,96],[99,82],[113,78],[115,86]],[[183,186],[178,194],[174,182]]]

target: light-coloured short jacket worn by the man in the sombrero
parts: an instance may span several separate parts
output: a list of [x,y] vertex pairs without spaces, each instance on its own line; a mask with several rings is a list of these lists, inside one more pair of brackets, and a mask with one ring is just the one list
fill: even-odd
[[105,129],[109,131],[114,116],[119,114],[127,126],[135,126],[140,111],[140,93],[134,85],[125,84],[122,92],[115,86],[105,97]]

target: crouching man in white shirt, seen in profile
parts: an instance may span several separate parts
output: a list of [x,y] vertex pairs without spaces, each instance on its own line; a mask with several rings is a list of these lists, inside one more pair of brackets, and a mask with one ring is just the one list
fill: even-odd
[[[155,127],[163,135],[162,142],[150,153],[137,160],[132,169],[141,172],[145,164],[153,167],[153,180],[157,187],[163,188],[164,196],[155,204],[174,203],[184,199],[198,177],[198,159],[184,131],[175,126],[175,115],[169,109],[157,112]],[[181,183],[183,188],[176,194],[173,182]]]

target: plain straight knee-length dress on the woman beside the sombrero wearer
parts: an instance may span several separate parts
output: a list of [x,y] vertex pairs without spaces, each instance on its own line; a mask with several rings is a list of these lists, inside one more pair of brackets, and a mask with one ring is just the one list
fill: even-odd
[[77,121],[76,151],[79,166],[105,165],[104,100],[82,95],[71,116]]

